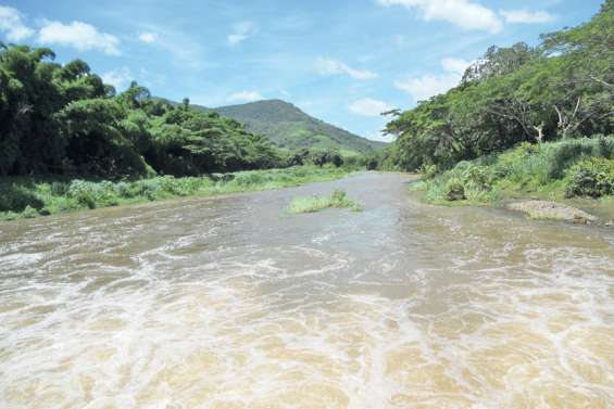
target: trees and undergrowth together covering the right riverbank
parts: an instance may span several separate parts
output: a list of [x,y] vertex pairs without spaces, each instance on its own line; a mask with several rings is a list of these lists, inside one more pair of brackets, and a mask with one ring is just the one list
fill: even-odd
[[[614,0],[607,0],[590,22],[543,35],[539,47],[490,48],[459,87],[392,112],[386,130],[397,141],[380,166],[427,176],[453,168],[435,179],[446,186],[429,182],[437,197],[483,195],[503,180],[523,189],[566,180],[567,195],[612,194],[612,137],[599,136],[614,132],[613,97]],[[562,142],[548,143],[555,141]]]

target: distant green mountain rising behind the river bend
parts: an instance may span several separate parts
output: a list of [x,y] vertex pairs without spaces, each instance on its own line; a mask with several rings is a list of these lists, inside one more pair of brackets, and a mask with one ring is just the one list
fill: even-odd
[[289,150],[335,149],[351,154],[368,153],[386,146],[384,142],[361,138],[309,116],[297,106],[280,100],[222,106],[213,111],[243,123],[252,132],[264,135],[279,148]]

